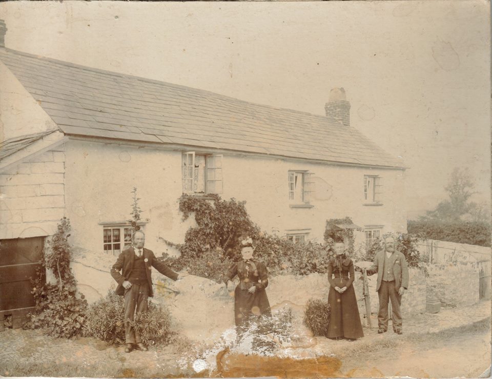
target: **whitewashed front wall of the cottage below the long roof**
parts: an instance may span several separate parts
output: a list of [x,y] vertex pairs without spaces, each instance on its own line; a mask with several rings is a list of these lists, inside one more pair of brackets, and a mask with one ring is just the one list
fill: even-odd
[[[147,246],[157,255],[171,252],[163,239],[183,242],[193,220],[181,222],[181,151],[70,141],[67,144],[67,216],[76,246],[103,248],[101,222],[130,218],[133,187],[141,198]],[[313,208],[291,208],[288,171],[316,174]],[[364,206],[363,175],[384,178],[382,206]],[[299,163],[280,159],[224,155],[224,199],[247,201],[254,222],[267,232],[310,229],[309,238],[322,241],[329,218],[351,216],[355,224],[384,225],[384,231],[406,231],[403,172]],[[362,233],[361,233],[362,234]]]

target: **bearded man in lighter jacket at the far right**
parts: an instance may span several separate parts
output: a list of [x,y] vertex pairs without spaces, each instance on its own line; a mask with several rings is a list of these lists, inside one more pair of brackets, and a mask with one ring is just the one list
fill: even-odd
[[[365,269],[364,269],[365,270]],[[388,303],[391,300],[393,331],[402,334],[401,296],[408,288],[408,265],[405,255],[395,250],[395,238],[384,238],[384,250],[378,251],[367,275],[378,273],[376,291],[379,295],[378,333],[388,330]]]

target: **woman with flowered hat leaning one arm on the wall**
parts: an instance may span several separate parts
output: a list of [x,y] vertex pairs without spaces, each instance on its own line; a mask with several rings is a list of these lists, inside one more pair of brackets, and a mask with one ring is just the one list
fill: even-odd
[[[253,241],[251,238],[241,242],[242,261],[233,264],[224,282],[229,292],[234,291],[234,318],[238,333],[248,329],[250,322],[258,320],[259,316],[271,316],[265,288],[268,286],[267,267],[253,260]],[[232,279],[239,277],[239,284],[234,289]]]

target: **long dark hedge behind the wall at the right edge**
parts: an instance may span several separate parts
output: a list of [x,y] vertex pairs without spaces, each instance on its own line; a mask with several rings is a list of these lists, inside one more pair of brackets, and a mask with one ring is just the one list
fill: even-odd
[[408,233],[430,240],[490,246],[490,224],[481,222],[408,221]]

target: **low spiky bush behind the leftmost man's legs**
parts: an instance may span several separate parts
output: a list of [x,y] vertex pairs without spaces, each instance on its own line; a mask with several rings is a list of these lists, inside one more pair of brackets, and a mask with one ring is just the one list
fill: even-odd
[[[106,297],[92,304],[87,312],[84,334],[113,345],[125,343],[125,301],[123,296],[109,291]],[[149,300],[147,312],[135,314],[133,327],[146,345],[167,344],[171,315]]]

